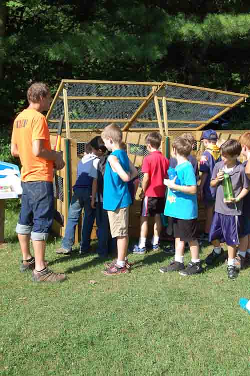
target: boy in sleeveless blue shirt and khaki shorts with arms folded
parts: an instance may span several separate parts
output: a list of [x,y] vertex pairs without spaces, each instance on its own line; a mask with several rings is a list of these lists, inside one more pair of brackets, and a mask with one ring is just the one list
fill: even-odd
[[128,272],[128,208],[132,200],[127,183],[137,175],[137,170],[122,150],[122,132],[118,125],[107,125],[101,138],[112,151],[105,165],[103,209],[107,210],[111,236],[117,238],[117,260],[107,264],[104,275],[116,275]]

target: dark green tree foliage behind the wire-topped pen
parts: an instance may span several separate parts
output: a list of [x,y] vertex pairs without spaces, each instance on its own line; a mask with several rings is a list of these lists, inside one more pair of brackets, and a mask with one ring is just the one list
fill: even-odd
[[[1,135],[36,80],[52,93],[63,78],[249,93],[249,42],[250,3],[243,0],[0,1]],[[247,103],[235,109],[235,126],[249,127],[249,112]]]

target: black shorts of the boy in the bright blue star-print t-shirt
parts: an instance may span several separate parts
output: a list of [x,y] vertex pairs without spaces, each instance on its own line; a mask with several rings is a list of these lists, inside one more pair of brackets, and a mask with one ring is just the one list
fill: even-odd
[[197,218],[192,220],[181,220],[173,218],[173,236],[181,242],[189,242],[196,239]]

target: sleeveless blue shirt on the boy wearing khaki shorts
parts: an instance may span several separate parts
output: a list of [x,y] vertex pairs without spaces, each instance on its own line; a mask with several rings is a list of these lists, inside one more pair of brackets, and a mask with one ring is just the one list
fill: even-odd
[[[115,150],[110,155],[115,155],[123,170],[129,171],[129,159],[124,150]],[[131,202],[127,182],[122,181],[117,172],[112,170],[107,158],[104,172],[103,209],[114,211],[128,207]]]

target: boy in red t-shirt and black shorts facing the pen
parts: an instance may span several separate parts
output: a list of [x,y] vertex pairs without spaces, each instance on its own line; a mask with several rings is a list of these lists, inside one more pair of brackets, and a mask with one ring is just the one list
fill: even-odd
[[133,247],[136,254],[144,254],[146,251],[146,237],[148,232],[148,217],[154,217],[153,237],[150,249],[158,249],[159,234],[161,231],[160,214],[164,212],[165,205],[165,185],[163,180],[168,169],[168,159],[158,150],[161,136],[158,132],[151,132],[145,137],[146,148],[149,151],[143,159],[141,172],[144,173],[142,179],[142,200],[140,215],[140,238],[138,245]]

